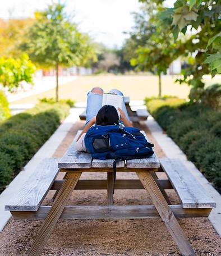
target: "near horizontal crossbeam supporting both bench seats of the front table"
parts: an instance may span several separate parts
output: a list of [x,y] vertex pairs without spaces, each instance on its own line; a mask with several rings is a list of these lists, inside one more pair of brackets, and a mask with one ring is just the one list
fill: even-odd
[[[183,209],[182,205],[169,205],[177,218],[208,217],[211,209]],[[50,206],[37,212],[11,212],[15,220],[44,220]],[[154,205],[74,205],[66,206],[60,219],[159,218]]]

